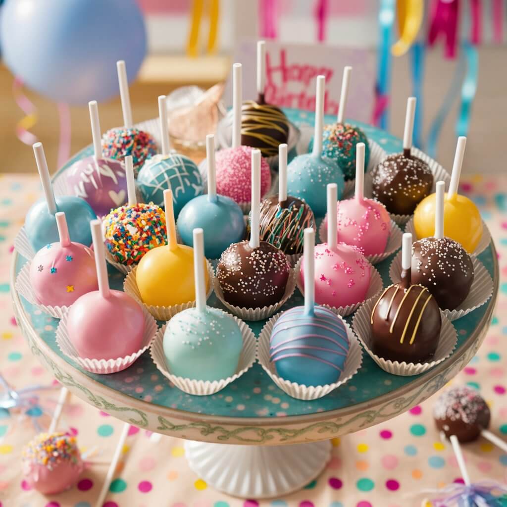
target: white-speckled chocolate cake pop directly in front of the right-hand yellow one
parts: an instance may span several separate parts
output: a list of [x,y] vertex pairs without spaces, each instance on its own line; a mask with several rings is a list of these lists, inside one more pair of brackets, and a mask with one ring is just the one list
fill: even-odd
[[437,183],[435,233],[412,245],[412,283],[425,286],[442,309],[454,310],[468,296],[474,265],[465,249],[444,237],[444,182]]

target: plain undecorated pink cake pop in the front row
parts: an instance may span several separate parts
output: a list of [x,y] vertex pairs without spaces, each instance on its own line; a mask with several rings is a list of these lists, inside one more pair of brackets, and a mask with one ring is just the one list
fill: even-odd
[[81,296],[70,307],[67,332],[81,357],[117,359],[141,348],[144,315],[128,294],[109,288],[100,220],[92,220],[90,226],[98,291]]

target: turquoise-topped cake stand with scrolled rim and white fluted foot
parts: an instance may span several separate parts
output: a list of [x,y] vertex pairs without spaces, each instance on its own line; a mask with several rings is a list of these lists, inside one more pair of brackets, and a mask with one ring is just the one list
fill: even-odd
[[[311,113],[295,110],[286,113],[302,132],[311,132]],[[326,120],[331,123],[334,118]],[[139,127],[158,135],[156,120]],[[386,152],[401,151],[399,139],[368,125],[361,127]],[[86,148],[58,171],[54,176],[55,189],[64,169],[91,152],[91,147]],[[376,266],[384,285],[390,283],[392,257]],[[118,419],[186,439],[190,466],[216,489],[244,498],[265,498],[300,489],[320,474],[330,457],[331,438],[385,422],[409,410],[465,367],[486,335],[498,292],[493,242],[479,259],[493,277],[493,296],[487,304],[453,322],[458,331],[458,345],[448,359],[422,375],[397,377],[378,368],[364,353],[363,367],[349,382],[310,402],[287,396],[260,365],[254,365],[219,393],[202,397],[171,386],[153,364],[149,352],[123,372],[91,374],[59,350],[55,342],[58,320],[41,313],[14,289],[12,299],[32,353],[62,385]],[[20,255],[14,255],[12,287],[25,262]],[[110,282],[114,288],[122,287],[123,275],[112,267]],[[214,295],[208,303],[218,305]],[[285,308],[302,303],[298,293]],[[249,324],[259,333],[264,322]],[[302,454],[304,459],[299,459]]]

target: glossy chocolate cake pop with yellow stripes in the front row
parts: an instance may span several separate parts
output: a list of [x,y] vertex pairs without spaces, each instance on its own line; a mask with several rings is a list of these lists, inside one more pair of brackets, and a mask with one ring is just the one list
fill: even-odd
[[412,235],[405,233],[402,279],[384,289],[372,309],[372,350],[391,361],[425,363],[437,350],[442,318],[428,289],[410,284],[411,247]]

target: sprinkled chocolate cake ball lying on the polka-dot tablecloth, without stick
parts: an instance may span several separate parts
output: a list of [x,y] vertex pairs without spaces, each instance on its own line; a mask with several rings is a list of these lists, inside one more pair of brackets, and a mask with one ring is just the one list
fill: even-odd
[[439,396],[433,407],[435,424],[447,438],[456,435],[460,442],[472,442],[487,429],[491,419],[483,397],[470,387],[449,389]]

